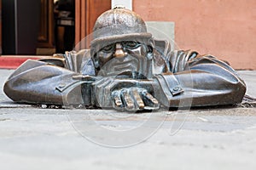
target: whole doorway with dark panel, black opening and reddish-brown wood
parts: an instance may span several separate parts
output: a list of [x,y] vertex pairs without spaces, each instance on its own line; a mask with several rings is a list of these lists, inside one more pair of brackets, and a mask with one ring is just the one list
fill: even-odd
[[[75,44],[92,32],[96,18],[111,8],[111,0],[1,1],[3,54],[17,55],[51,55],[72,50]],[[72,9],[57,8],[56,3],[60,1],[68,3],[67,6]],[[20,8],[20,14],[15,13],[15,8]],[[60,11],[64,12],[59,14]],[[23,27],[23,30],[20,29]]]

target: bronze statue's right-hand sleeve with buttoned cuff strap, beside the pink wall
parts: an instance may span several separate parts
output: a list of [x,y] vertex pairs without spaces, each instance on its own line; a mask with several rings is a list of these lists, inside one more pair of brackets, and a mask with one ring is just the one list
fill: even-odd
[[233,105],[246,92],[236,71],[212,55],[174,51],[168,64],[170,71],[155,76],[160,84],[156,98],[168,107]]

